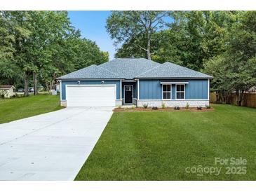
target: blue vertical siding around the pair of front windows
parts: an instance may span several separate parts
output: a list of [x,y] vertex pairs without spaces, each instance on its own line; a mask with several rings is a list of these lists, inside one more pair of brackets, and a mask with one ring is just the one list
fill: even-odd
[[[208,100],[208,79],[193,79],[186,82],[188,84],[185,84],[185,100]],[[175,92],[173,84],[172,100],[175,100]],[[161,80],[140,79],[140,100],[162,100]]]

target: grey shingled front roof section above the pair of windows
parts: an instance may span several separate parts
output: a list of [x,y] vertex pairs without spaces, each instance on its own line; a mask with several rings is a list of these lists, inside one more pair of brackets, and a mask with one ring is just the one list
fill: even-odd
[[159,67],[137,75],[136,78],[213,78],[213,76],[208,76],[178,64],[165,62]]

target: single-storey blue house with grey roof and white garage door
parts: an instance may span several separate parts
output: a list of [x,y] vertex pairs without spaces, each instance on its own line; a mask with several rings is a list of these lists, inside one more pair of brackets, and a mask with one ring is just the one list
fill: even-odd
[[67,107],[205,107],[213,76],[165,62],[116,59],[58,78],[60,104]]

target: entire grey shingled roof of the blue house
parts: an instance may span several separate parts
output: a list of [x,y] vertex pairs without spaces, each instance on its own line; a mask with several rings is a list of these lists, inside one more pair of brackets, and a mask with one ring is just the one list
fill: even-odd
[[58,79],[133,79],[133,78],[213,78],[206,74],[165,62],[159,64],[144,58],[115,59],[100,65],[74,71]]

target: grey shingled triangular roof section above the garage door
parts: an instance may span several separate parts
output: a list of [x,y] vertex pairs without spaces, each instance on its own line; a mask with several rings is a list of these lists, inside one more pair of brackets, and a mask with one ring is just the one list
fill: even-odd
[[58,79],[80,79],[80,78],[90,78],[90,79],[100,79],[100,78],[122,78],[118,74],[114,74],[111,71],[99,67],[95,64],[90,65],[89,67],[85,67],[83,69],[79,69],[78,71],[74,71],[70,74],[66,74],[61,76]]

